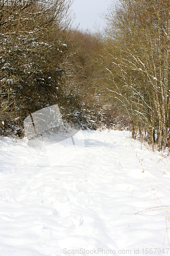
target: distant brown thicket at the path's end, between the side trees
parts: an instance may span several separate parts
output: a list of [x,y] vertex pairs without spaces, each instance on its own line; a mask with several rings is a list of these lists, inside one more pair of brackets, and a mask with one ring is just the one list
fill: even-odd
[[71,88],[67,118],[84,129],[125,128],[129,123],[127,115],[108,102],[101,90],[96,90],[101,72],[94,56],[102,48],[101,40],[95,34],[78,30],[67,31],[66,36],[68,49],[71,49],[69,72],[66,70]]

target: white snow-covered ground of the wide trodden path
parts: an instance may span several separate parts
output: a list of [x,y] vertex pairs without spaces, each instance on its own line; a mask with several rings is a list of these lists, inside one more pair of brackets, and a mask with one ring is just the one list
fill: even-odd
[[26,138],[0,141],[0,255],[170,255],[169,156],[129,132],[83,136],[53,167]]

